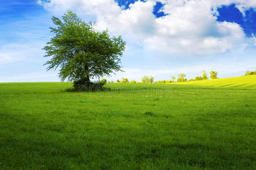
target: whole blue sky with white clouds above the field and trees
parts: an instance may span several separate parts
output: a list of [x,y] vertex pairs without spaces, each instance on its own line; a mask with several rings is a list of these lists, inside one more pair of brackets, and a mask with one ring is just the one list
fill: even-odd
[[240,76],[256,69],[256,2],[199,0],[2,0],[0,2],[0,82],[60,81],[46,71],[42,48],[53,36],[51,17],[77,12],[97,29],[122,35],[127,48],[122,57],[126,77],[152,75],[168,80],[218,71],[222,77]]

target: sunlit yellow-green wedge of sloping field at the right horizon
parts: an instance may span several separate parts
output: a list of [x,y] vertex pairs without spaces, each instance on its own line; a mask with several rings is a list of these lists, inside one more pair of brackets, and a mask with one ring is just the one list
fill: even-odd
[[236,76],[221,79],[209,79],[192,82],[182,82],[180,84],[193,84],[200,86],[215,86],[215,87],[238,87],[256,89],[256,75]]

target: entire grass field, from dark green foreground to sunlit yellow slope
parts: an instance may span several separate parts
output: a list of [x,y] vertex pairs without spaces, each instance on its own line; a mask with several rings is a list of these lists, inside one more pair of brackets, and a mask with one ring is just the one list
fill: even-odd
[[255,78],[0,83],[0,169],[253,169]]

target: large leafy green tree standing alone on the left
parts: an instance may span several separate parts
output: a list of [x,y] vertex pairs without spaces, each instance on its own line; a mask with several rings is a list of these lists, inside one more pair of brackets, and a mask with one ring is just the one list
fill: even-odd
[[55,36],[43,48],[44,57],[52,58],[45,65],[47,70],[59,68],[62,81],[90,84],[93,78],[121,70],[126,44],[121,36],[110,37],[108,29],[96,31],[93,23],[85,23],[72,11],[67,11],[62,20],[53,16],[52,22],[56,27],[50,29]]

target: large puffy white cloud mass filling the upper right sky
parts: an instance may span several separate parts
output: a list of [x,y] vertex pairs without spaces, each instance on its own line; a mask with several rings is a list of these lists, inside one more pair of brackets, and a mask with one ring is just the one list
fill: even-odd
[[255,1],[223,0],[159,0],[167,16],[155,18],[154,0],[135,2],[122,10],[114,0],[39,1],[47,10],[64,12],[71,9],[96,19],[97,28],[109,28],[126,40],[139,43],[147,50],[166,54],[216,54],[245,46],[240,25],[217,22],[217,7],[236,3],[243,12],[256,7]]

